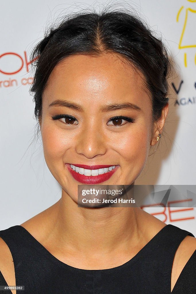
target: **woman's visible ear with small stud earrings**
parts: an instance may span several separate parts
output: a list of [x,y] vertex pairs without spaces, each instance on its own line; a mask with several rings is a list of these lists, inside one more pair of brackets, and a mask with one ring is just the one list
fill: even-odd
[[168,111],[169,111],[169,103],[167,103],[164,106],[164,108],[162,109],[160,118],[158,119],[158,121],[154,123],[153,135],[150,142],[151,146],[156,145],[157,141],[159,140],[158,135],[161,134],[163,131],[163,127],[165,125],[165,120],[167,118]]

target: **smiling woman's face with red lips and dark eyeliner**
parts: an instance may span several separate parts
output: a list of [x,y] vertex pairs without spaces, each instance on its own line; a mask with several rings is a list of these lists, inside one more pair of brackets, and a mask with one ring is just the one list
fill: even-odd
[[77,202],[78,185],[134,183],[155,143],[149,96],[143,75],[113,54],[69,56],[53,69],[40,125],[63,193]]

